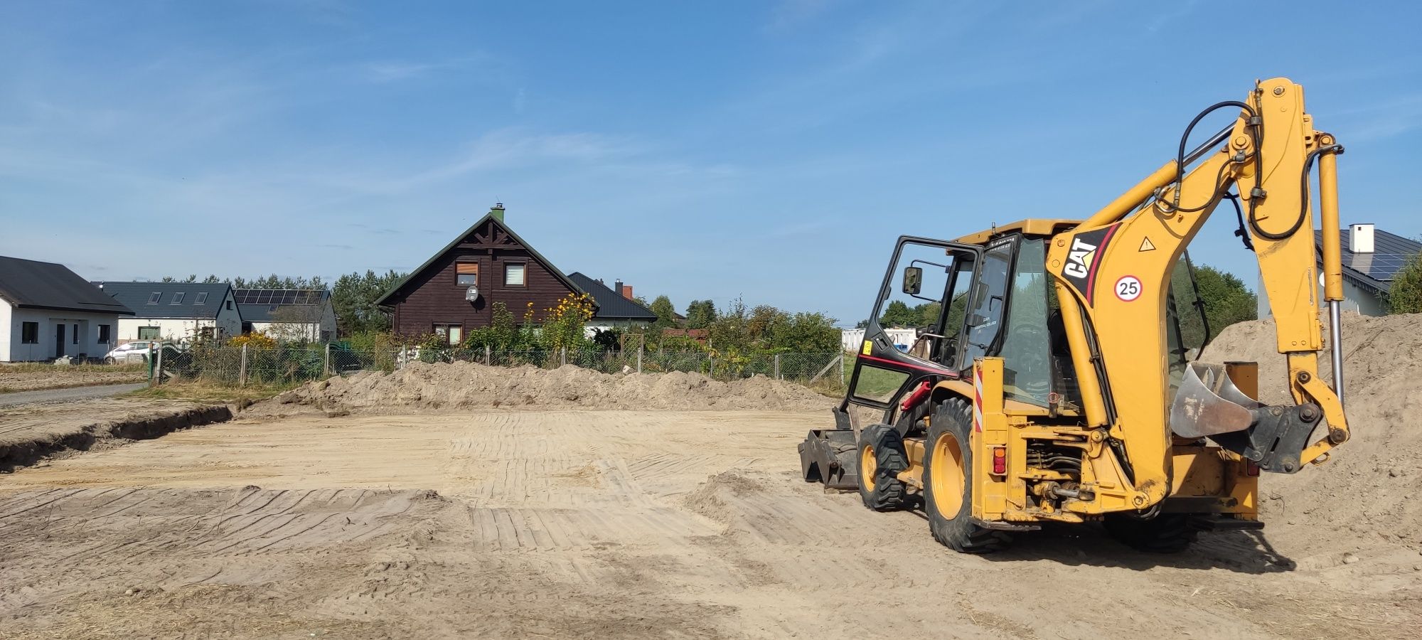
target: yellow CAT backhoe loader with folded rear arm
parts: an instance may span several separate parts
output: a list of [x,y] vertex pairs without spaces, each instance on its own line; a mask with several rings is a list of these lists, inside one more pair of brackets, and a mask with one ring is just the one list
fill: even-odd
[[[1221,110],[1239,115],[1186,151]],[[1273,78],[1200,112],[1173,159],[1084,220],[899,238],[835,428],[799,447],[805,481],[857,488],[876,511],[921,506],[933,536],[967,553],[1044,522],[1101,521],[1152,552],[1263,528],[1260,474],[1322,464],[1348,439],[1341,152],[1304,112],[1303,88]],[[1257,363],[1196,361],[1212,327],[1186,247],[1224,201],[1258,260],[1290,405],[1256,400]],[[1318,375],[1320,297],[1331,385]],[[899,303],[924,319],[912,346],[880,326]]]

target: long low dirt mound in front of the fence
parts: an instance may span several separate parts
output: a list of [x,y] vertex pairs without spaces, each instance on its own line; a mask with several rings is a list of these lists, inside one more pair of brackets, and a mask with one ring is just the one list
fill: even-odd
[[555,370],[486,367],[475,363],[411,363],[384,373],[310,383],[252,407],[290,412],[292,404],[323,411],[459,408],[594,410],[816,410],[832,404],[806,387],[757,375],[721,383],[694,373],[603,374],[563,366]]

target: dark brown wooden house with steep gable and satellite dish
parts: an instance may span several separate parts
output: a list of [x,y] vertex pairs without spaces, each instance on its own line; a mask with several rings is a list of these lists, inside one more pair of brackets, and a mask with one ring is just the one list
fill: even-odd
[[516,319],[533,303],[538,317],[567,294],[583,293],[552,262],[503,223],[503,205],[475,222],[377,302],[394,310],[394,330],[464,340],[492,320],[493,303]]

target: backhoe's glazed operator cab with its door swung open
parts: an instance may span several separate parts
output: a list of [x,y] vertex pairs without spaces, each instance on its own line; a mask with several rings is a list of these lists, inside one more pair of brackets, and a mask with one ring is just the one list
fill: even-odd
[[[1066,220],[1030,222],[1041,229],[998,228],[960,242],[902,236],[840,408],[882,410],[883,422],[893,424],[906,394],[923,383],[971,381],[973,363],[993,356],[1003,358],[1007,400],[1074,412],[1081,404],[1076,374],[1045,265],[1051,238],[1038,235]],[[1172,280],[1166,333],[1173,390],[1207,327],[1187,256]]]

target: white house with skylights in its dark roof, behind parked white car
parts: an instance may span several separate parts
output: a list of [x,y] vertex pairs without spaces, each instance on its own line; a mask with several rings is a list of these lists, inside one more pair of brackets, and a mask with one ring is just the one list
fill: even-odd
[[132,340],[228,338],[242,333],[232,286],[191,282],[104,282],[104,293],[134,310],[118,320],[119,344]]

